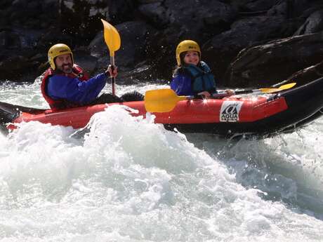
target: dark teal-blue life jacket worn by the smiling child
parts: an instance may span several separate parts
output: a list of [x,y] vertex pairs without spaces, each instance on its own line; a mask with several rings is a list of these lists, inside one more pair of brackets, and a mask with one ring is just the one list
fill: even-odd
[[216,91],[216,81],[211,73],[210,67],[203,61],[201,65],[187,65],[182,67],[184,73],[189,74],[192,79],[192,90],[194,93],[206,91]]

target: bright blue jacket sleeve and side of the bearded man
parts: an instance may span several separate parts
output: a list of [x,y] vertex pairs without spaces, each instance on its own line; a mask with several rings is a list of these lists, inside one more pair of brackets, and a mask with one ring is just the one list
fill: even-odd
[[47,94],[54,100],[65,99],[79,105],[86,105],[95,100],[105,87],[106,78],[105,73],[93,76],[87,81],[53,75],[48,79]]

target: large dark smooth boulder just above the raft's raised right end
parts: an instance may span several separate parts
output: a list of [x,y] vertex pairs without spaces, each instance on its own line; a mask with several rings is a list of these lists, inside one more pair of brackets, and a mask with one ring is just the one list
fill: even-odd
[[267,86],[323,59],[323,32],[294,36],[246,48],[230,65],[228,86]]

